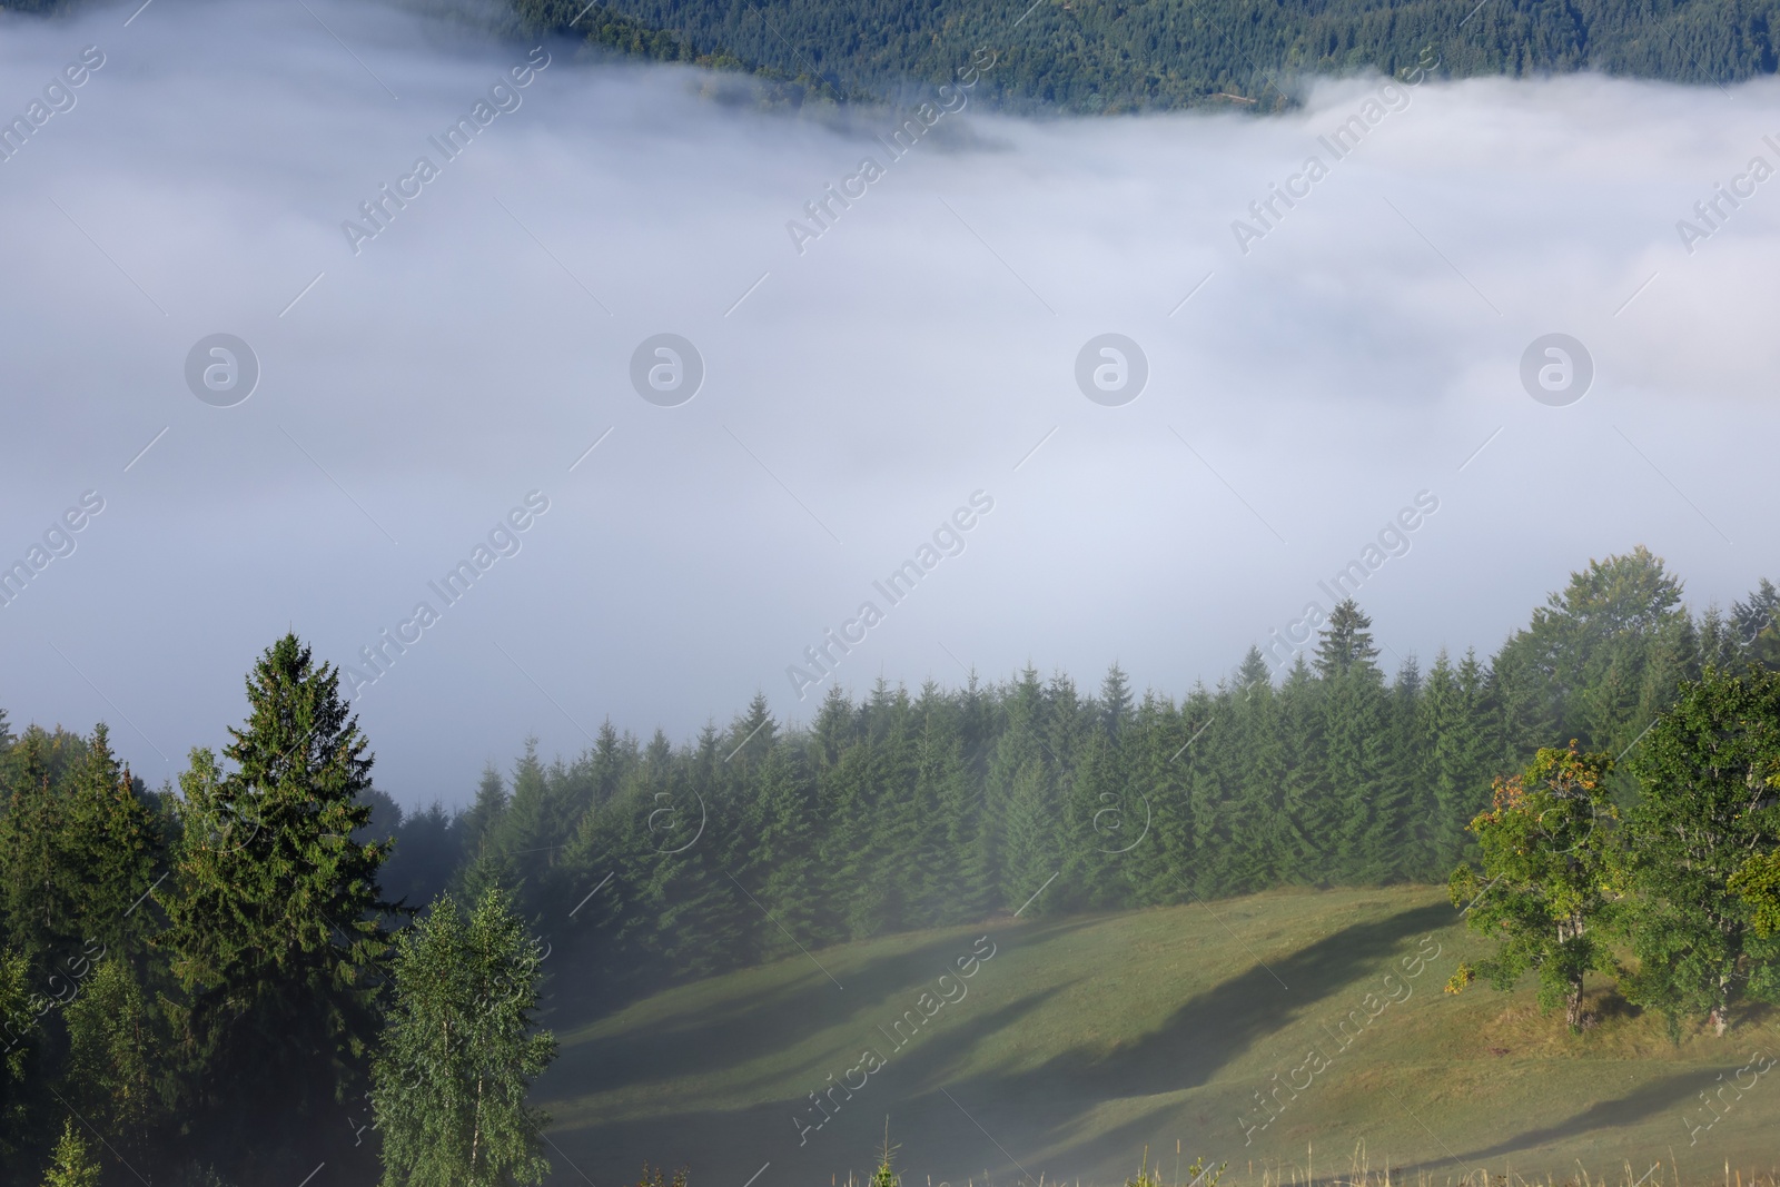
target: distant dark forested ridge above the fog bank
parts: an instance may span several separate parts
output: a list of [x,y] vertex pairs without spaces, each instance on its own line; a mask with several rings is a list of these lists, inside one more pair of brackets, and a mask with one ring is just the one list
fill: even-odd
[[[1009,110],[1276,110],[1305,75],[1597,69],[1728,84],[1776,69],[1780,0],[513,0],[529,28],[660,61],[789,80],[822,100],[906,96],[997,66],[972,98]],[[573,28],[570,23],[573,21]]]

